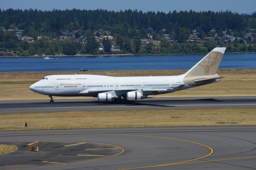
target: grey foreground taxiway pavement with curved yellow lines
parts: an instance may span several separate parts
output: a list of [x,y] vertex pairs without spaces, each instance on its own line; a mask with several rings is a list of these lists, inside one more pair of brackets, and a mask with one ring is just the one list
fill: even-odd
[[[0,169],[256,169],[255,133],[256,127],[0,132],[0,143],[19,146],[16,152],[0,155]],[[28,151],[29,144],[39,152]],[[93,148],[104,151],[92,152]]]

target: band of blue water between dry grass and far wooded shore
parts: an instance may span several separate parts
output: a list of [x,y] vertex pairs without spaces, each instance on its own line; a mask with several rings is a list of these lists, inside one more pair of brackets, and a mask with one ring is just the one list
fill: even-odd
[[[0,72],[190,69],[205,54],[154,56],[0,57]],[[219,68],[256,68],[256,53],[224,54]]]

